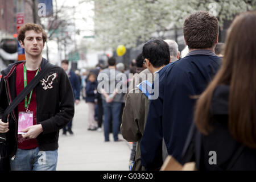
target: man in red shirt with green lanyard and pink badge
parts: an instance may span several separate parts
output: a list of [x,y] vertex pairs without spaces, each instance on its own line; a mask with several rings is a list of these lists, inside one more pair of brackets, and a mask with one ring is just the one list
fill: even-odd
[[[0,133],[6,134],[7,158],[11,170],[56,170],[59,130],[74,115],[74,97],[64,70],[42,57],[47,40],[38,24],[26,23],[19,28],[18,40],[26,61],[9,65],[1,73],[0,115],[16,96],[46,67],[46,76],[31,90],[9,115],[9,122],[0,119]],[[31,121],[30,125],[26,122]],[[25,124],[19,134],[20,127]],[[42,160],[43,159],[43,160]],[[2,159],[1,159],[2,160]]]

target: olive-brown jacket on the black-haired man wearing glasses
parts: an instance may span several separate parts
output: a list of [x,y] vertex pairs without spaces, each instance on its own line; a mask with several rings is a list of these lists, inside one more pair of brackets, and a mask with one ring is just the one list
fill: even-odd
[[[138,77],[145,75],[141,80],[144,81],[147,78],[147,74],[150,74],[150,71],[144,69],[144,71],[139,73]],[[151,78],[154,78],[154,76]],[[152,82],[152,80],[148,81]],[[144,167],[141,165],[141,139],[146,125],[149,103],[150,100],[148,100],[147,96],[139,88],[135,87],[127,94],[123,109],[121,125],[123,138],[128,142],[137,142],[135,160],[133,159],[134,165],[132,170],[134,171],[144,170]]]

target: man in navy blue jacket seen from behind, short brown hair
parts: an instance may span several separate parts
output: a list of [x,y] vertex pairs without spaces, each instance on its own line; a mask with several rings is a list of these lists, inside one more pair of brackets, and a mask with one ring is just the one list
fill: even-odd
[[[183,27],[189,53],[159,72],[159,97],[150,101],[141,141],[141,162],[147,170],[163,164],[163,139],[169,155],[180,162],[193,121],[192,96],[200,95],[220,67],[214,53],[218,42],[218,20],[205,11],[191,14]],[[155,84],[155,83],[154,83]]]

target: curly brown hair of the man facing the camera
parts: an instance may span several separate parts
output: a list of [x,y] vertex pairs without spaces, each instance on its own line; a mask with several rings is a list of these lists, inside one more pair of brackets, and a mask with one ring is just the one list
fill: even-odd
[[43,28],[39,25],[39,24],[35,24],[35,23],[25,23],[23,24],[23,26],[21,26],[19,28],[19,35],[18,35],[18,40],[22,41],[22,43],[24,43],[24,39],[25,39],[25,33],[26,31],[29,30],[34,30],[38,33],[42,32],[42,36],[43,36],[43,42],[45,43],[47,40],[47,35],[46,32],[43,30]]

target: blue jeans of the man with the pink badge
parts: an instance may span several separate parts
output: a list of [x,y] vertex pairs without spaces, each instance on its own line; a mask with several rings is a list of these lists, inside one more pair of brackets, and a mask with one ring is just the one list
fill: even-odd
[[11,171],[56,171],[58,150],[39,151],[19,149],[14,160],[10,159]]

